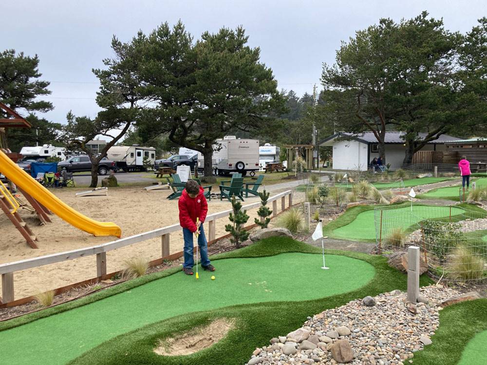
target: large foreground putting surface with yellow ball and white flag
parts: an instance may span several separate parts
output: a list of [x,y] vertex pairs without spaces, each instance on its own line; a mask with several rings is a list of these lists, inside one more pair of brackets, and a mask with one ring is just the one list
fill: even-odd
[[237,304],[302,301],[366,285],[369,263],[329,255],[286,253],[213,262],[217,271],[200,279],[182,272],[127,292],[0,332],[3,364],[66,364],[115,336],[176,315]]

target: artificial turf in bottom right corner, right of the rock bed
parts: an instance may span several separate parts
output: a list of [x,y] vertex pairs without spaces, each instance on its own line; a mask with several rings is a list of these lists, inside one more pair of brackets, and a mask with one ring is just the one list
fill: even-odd
[[487,299],[440,311],[432,344],[414,353],[414,365],[484,365],[487,358]]

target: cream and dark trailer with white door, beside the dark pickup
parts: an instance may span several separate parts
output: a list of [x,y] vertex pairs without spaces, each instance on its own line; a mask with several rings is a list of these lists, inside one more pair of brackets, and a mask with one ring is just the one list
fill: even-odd
[[155,148],[142,146],[112,146],[107,151],[107,158],[124,171],[144,169],[144,159],[155,164]]

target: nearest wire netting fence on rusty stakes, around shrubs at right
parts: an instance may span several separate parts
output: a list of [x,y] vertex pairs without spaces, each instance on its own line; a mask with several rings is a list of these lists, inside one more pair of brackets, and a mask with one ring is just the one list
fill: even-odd
[[377,207],[374,219],[378,253],[415,245],[438,280],[487,279],[487,212],[458,206]]

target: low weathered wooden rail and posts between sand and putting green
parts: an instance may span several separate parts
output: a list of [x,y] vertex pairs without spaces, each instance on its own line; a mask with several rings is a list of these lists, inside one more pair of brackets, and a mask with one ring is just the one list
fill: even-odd
[[[271,202],[271,201],[273,202],[272,206],[273,206],[274,216],[277,214],[277,201],[279,199],[281,199],[281,211],[286,209],[286,197],[288,197],[288,207],[291,207],[293,205],[292,190],[284,191],[267,200],[267,202]],[[261,201],[257,201],[252,204],[244,205],[242,209],[247,209],[247,210],[256,209],[259,208],[260,206],[261,206]],[[215,239],[216,220],[228,217],[231,212],[232,210],[229,209],[223,212],[218,212],[206,216],[205,222],[208,223],[207,239],[209,241]],[[62,261],[72,260],[75,258],[96,255],[96,276],[100,277],[107,274],[107,254],[106,254],[107,252],[115,250],[117,248],[129,246],[134,243],[139,243],[147,239],[161,237],[161,254],[162,254],[162,258],[165,259],[166,257],[169,256],[170,234],[179,231],[181,231],[181,226],[179,225],[179,223],[177,223],[167,227],[157,228],[152,231],[140,233],[138,235],[120,238],[115,241],[103,243],[96,246],[0,264],[0,274],[1,274],[1,281],[2,281],[2,296],[1,296],[0,303],[5,304],[14,301],[14,273],[16,271],[32,269],[35,267],[49,265],[56,262],[62,262]]]

